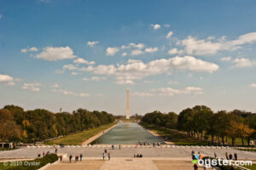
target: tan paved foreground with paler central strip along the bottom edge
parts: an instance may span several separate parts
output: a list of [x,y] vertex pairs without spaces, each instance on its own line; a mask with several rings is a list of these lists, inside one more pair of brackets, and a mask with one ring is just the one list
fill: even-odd
[[177,158],[112,158],[102,161],[99,158],[69,163],[67,160],[46,168],[46,170],[193,170],[193,164],[188,159]]

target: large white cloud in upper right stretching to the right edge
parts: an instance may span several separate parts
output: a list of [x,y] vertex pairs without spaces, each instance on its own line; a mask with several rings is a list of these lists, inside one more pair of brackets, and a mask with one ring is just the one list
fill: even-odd
[[187,37],[183,39],[180,44],[182,45],[187,54],[206,55],[216,54],[220,50],[236,50],[241,48],[241,45],[256,42],[256,32],[250,32],[235,40],[227,41],[222,37],[218,41],[212,42],[212,39],[197,39],[196,37]]

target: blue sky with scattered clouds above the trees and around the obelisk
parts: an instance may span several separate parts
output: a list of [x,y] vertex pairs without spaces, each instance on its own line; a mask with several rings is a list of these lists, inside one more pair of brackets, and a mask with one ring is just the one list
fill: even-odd
[[0,0],[0,107],[256,112],[250,0]]

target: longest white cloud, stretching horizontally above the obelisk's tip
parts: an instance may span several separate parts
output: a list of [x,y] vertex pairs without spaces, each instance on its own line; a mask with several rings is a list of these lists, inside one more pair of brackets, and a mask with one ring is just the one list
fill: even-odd
[[97,65],[83,67],[80,71],[90,71],[96,75],[113,76],[119,84],[132,84],[143,77],[164,74],[172,70],[189,70],[212,73],[218,70],[218,65],[196,59],[191,56],[156,59],[149,63],[129,59],[126,65]]

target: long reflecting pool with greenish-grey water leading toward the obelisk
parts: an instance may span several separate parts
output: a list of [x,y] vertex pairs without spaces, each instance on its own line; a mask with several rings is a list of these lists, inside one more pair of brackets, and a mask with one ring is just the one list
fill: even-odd
[[113,127],[108,133],[104,133],[92,144],[137,144],[137,142],[160,142],[163,140],[148,133],[143,127],[135,122],[121,122]]

